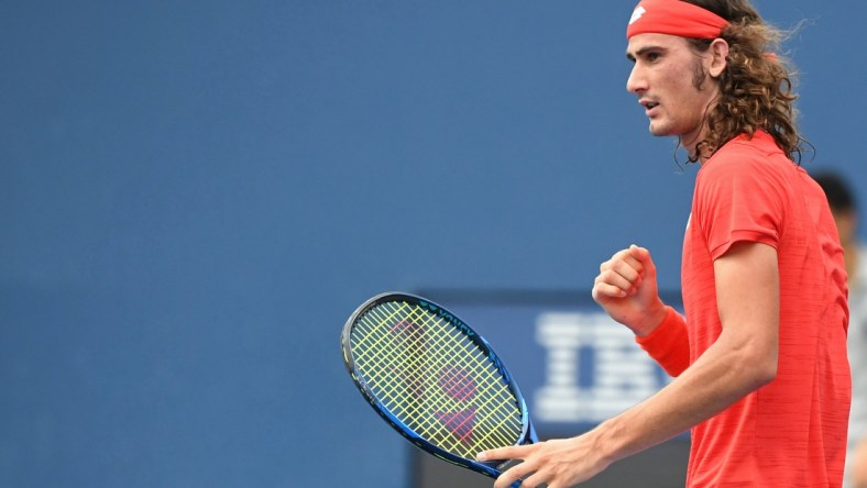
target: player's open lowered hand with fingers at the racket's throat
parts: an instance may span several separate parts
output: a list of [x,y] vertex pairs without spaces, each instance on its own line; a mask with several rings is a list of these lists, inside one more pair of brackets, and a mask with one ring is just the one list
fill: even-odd
[[494,483],[494,488],[507,488],[517,480],[523,480],[522,487],[547,484],[548,488],[568,488],[600,474],[613,462],[605,459],[603,450],[595,444],[593,436],[585,434],[485,451],[476,458],[524,461],[505,470]]

